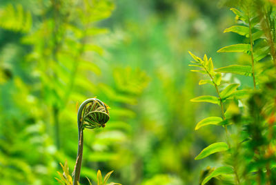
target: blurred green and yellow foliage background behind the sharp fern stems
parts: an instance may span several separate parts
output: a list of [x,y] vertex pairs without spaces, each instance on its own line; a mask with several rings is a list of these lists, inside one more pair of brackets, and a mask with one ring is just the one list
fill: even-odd
[[[114,170],[124,185],[199,184],[202,148],[224,139],[222,128],[195,131],[217,106],[195,104],[215,93],[198,85],[188,50],[217,68],[246,55],[218,54],[242,37],[233,1],[1,0],[0,182],[58,184],[59,162],[72,172],[77,107],[90,97],[110,106],[106,128],[84,131],[81,184]],[[233,78],[224,76],[224,78]],[[251,79],[244,86],[252,84]]]

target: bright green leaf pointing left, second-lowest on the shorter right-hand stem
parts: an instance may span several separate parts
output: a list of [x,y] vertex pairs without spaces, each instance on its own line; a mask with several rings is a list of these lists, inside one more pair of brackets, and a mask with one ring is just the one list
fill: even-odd
[[195,157],[195,160],[199,160],[199,159],[204,159],[205,157],[208,157],[209,155],[213,154],[213,153],[218,153],[218,152],[222,152],[225,150],[228,150],[228,144],[224,143],[224,142],[218,142],[215,144],[211,144],[209,146],[207,146],[206,148],[204,148],[201,153],[199,153],[199,155],[197,155],[197,157]]

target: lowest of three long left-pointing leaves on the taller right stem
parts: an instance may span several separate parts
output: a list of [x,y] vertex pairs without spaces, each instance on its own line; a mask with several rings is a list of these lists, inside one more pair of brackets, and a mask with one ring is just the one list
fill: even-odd
[[244,75],[248,77],[252,76],[251,66],[231,65],[222,68],[217,68],[215,72],[230,72],[237,75]]

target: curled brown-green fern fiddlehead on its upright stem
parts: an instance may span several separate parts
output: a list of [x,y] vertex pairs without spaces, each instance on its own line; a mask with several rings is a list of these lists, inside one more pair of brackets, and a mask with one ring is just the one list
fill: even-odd
[[96,98],[83,101],[77,113],[77,123],[79,128],[79,145],[77,161],[73,172],[73,184],[77,185],[81,173],[81,160],[83,155],[83,130],[84,128],[101,128],[106,126],[109,120],[108,106]]

